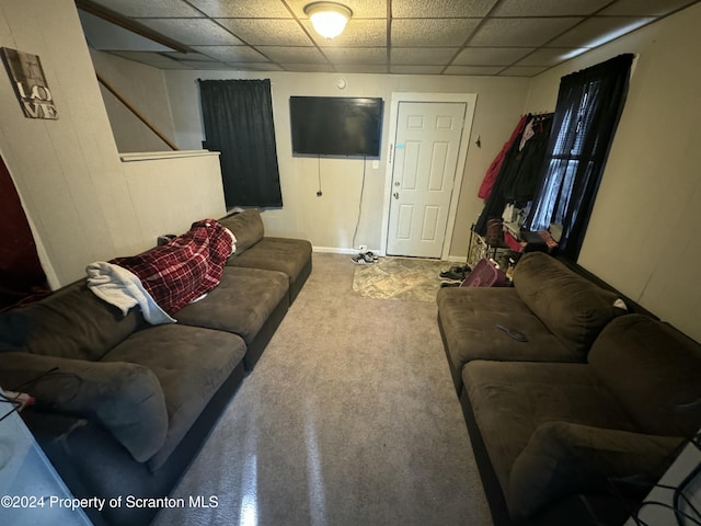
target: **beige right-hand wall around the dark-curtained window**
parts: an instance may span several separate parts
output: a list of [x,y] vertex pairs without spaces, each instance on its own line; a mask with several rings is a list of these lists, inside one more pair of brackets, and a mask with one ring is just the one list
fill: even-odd
[[541,75],[528,105],[554,108],[562,76],[637,55],[579,262],[701,341],[699,27],[701,4]]

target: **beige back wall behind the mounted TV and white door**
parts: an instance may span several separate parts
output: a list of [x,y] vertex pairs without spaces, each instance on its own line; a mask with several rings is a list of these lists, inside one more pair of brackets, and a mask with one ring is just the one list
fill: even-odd
[[[347,79],[344,90],[336,88],[340,77]],[[264,213],[266,229],[278,236],[309,239],[317,250],[334,251],[352,251],[360,244],[372,250],[382,249],[382,210],[384,199],[389,198],[386,195],[386,162],[392,93],[476,93],[472,137],[450,249],[450,255],[458,261],[464,261],[467,256],[470,226],[482,209],[482,201],[476,197],[478,187],[487,165],[518,122],[528,89],[528,79],[519,78],[166,71],[176,140],[183,148],[198,147],[204,137],[198,78],[271,79],[284,207]],[[292,157],[288,108],[291,95],[381,96],[384,100],[382,159],[378,169],[372,169],[372,162],[367,161],[361,201],[361,159],[318,161]],[[474,145],[478,135],[482,148]],[[318,197],[320,171],[323,195]]]

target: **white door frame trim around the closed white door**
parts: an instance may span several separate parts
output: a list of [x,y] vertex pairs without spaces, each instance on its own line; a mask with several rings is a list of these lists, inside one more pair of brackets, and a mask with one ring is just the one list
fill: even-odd
[[[462,125],[462,136],[460,138],[460,149],[458,150],[458,162],[453,174],[453,185],[450,195],[450,207],[448,208],[448,222],[444,235],[443,250],[440,259],[448,258],[450,244],[452,242],[452,230],[456,225],[456,214],[458,201],[464,176],[464,167],[468,158],[470,136],[472,134],[472,119],[474,117],[474,106],[476,104],[476,93],[417,93],[417,92],[393,92],[390,102],[390,127],[388,132],[387,165],[384,169],[384,199],[382,205],[382,236],[380,239],[381,255],[387,255],[387,243],[390,226],[390,204],[392,197],[392,178],[394,170],[394,139],[397,138],[397,121],[399,117],[399,104],[401,102],[457,102],[466,103],[464,123]],[[460,174],[460,176],[458,176]]]

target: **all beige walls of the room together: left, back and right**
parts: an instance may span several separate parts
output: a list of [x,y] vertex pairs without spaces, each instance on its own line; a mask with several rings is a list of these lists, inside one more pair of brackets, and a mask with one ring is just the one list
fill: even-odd
[[[291,157],[288,98],[343,93],[382,96],[389,103],[392,92],[476,93],[450,250],[460,259],[467,252],[469,226],[482,208],[475,196],[479,184],[518,115],[554,108],[563,75],[619,53],[635,53],[639,59],[628,103],[581,262],[701,340],[701,287],[694,275],[701,258],[694,233],[694,214],[701,206],[701,149],[697,146],[701,73],[689,53],[701,47],[700,25],[701,5],[696,5],[536,79],[347,75],[348,87],[340,92],[338,75],[168,71],[162,73],[164,96],[173,107],[176,142],[183,149],[197,149],[203,139],[198,77],[271,78],[285,207],[265,213],[266,228],[274,235],[308,238],[318,248],[350,250],[359,210],[355,244],[379,248],[387,153],[379,169],[374,170],[371,162],[365,167],[360,201],[361,161],[324,159],[318,164]],[[202,162],[119,160],[70,0],[0,0],[0,45],[41,56],[59,112],[58,121],[25,118],[9,80],[0,82],[0,152],[54,285],[80,277],[90,261],[143,250],[157,233],[179,232],[192,220],[223,213],[220,183],[211,176],[217,170],[211,157]],[[111,71],[124,67],[107,61],[103,66]],[[130,89],[163,90],[161,73],[151,73]],[[112,80],[120,82],[118,76]],[[386,125],[384,134],[387,129]],[[482,148],[474,145],[478,135]],[[322,197],[315,195],[319,169]],[[203,178],[205,188],[197,182]]]

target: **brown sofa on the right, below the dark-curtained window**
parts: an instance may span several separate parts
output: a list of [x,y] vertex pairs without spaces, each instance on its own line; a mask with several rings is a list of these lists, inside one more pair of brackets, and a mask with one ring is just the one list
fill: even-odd
[[619,296],[544,253],[438,293],[495,525],[623,524],[701,427],[701,345]]

